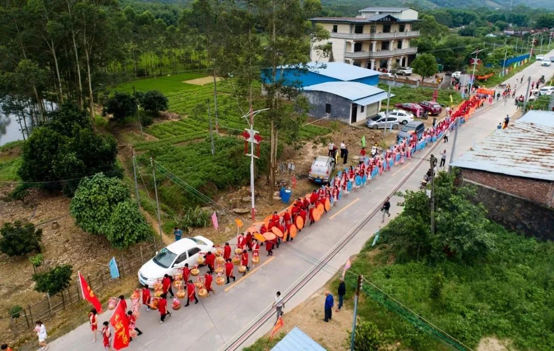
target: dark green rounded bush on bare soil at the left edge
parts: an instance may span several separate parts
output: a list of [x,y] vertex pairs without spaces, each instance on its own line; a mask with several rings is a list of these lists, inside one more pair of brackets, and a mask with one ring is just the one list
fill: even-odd
[[0,251],[8,256],[20,256],[29,252],[40,252],[40,240],[42,240],[42,229],[34,228],[32,223],[23,225],[15,221],[13,225],[4,223],[0,229]]

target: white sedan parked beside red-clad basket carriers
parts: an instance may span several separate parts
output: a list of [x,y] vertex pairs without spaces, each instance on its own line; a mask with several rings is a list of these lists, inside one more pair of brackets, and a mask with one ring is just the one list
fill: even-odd
[[158,278],[163,275],[176,275],[181,272],[184,264],[188,264],[192,269],[198,260],[198,256],[206,254],[208,251],[216,250],[213,242],[203,236],[194,236],[194,238],[183,238],[167,245],[156,256],[142,265],[139,270],[139,282],[142,285],[152,286]]

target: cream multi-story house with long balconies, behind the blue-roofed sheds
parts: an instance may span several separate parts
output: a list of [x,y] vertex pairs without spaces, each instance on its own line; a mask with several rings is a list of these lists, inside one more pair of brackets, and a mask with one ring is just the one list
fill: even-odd
[[[315,43],[312,61],[337,61],[375,70],[391,70],[396,63],[407,67],[416,58],[411,46],[419,31],[412,30],[418,12],[409,7],[368,7],[356,17],[316,17],[311,21],[329,30],[326,42]],[[318,47],[329,44],[332,53]]]

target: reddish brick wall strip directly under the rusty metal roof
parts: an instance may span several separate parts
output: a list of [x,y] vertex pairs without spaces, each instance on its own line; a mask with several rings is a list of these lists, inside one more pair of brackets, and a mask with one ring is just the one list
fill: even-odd
[[461,176],[464,180],[471,180],[537,204],[554,207],[554,182],[510,177],[504,174],[476,171],[468,168],[461,169]]

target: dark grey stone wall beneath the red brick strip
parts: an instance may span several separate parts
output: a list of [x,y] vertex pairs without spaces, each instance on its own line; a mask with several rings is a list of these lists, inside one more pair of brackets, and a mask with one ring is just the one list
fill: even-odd
[[485,205],[491,220],[517,233],[554,240],[554,209],[468,179],[463,184],[477,187],[474,200]]

